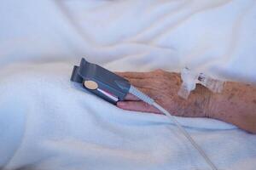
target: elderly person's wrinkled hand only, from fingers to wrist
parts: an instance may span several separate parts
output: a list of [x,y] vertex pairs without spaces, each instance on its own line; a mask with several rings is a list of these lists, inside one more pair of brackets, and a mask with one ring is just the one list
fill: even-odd
[[[182,83],[178,73],[156,70],[151,72],[118,72],[117,74],[128,79],[133,86],[148,94],[175,116],[207,116],[211,92],[207,88],[197,85],[195,91],[189,95],[189,99],[182,99],[177,95]],[[125,110],[160,113],[153,106],[131,94],[126,96],[126,101],[120,101],[117,105]]]

